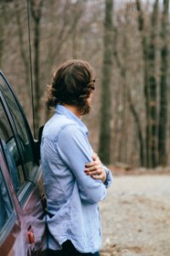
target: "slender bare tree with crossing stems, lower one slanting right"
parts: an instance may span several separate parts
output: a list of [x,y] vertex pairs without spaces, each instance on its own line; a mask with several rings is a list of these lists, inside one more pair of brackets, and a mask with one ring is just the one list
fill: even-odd
[[[132,20],[130,21],[130,10],[133,9],[133,3],[127,3],[126,10],[125,10],[125,22],[124,29],[125,31],[127,30],[127,27],[130,25],[130,22],[133,22]],[[127,126],[128,120],[129,120],[129,113],[128,113],[128,108],[130,112],[133,115],[133,120],[134,120],[134,125],[136,128],[136,134],[137,138],[139,141],[139,162],[141,166],[144,166],[144,138],[143,138],[143,132],[142,132],[142,126],[141,126],[141,120],[139,119],[139,113],[135,108],[135,104],[133,102],[133,97],[131,96],[131,90],[130,86],[127,82],[127,73],[129,72],[129,66],[128,66],[128,55],[129,55],[129,42],[127,39],[127,34],[126,32],[123,33],[122,36],[122,61],[120,58],[120,54],[118,54],[118,49],[117,49],[117,33],[118,33],[118,28],[115,27],[115,34],[114,34],[114,47],[113,47],[113,54],[115,56],[116,60],[116,66],[120,70],[121,78],[122,78],[122,140],[120,142],[121,147],[120,150],[120,157],[119,161],[127,162],[127,137],[129,136],[127,133]],[[131,67],[132,69],[132,67]]]

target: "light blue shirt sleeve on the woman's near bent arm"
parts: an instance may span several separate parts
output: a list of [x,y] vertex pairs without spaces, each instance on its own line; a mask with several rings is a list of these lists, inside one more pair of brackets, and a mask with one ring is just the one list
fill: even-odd
[[105,184],[84,172],[85,165],[92,161],[88,137],[76,125],[66,125],[59,132],[56,147],[61,159],[76,178],[82,201],[102,201],[106,195]]

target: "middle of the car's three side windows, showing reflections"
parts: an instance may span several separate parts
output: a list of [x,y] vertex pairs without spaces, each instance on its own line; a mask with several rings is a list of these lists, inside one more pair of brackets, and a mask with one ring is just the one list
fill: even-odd
[[14,184],[14,190],[19,191],[25,182],[20,152],[14,138],[13,131],[8,123],[6,113],[4,112],[2,102],[0,101],[0,137],[8,163],[8,170]]

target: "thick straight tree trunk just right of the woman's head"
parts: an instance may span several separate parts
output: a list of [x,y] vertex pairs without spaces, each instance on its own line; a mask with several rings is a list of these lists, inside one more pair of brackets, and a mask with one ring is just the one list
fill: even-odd
[[104,58],[102,69],[99,156],[105,164],[111,161],[111,73],[112,73],[113,0],[105,0]]

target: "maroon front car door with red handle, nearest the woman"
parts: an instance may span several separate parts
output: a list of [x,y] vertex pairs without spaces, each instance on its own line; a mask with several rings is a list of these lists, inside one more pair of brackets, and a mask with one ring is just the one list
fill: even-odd
[[24,252],[20,255],[35,255],[47,244],[41,198],[42,170],[25,114],[3,73],[0,73],[0,114],[3,154],[20,205],[17,214],[24,239]]

